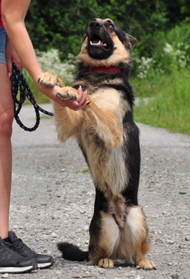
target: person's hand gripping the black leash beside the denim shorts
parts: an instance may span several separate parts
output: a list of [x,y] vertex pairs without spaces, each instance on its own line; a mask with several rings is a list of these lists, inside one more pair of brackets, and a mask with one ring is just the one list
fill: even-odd
[[17,65],[17,67],[20,68],[20,70],[23,70],[22,63],[8,38],[6,41],[6,61],[7,61],[8,78],[10,78],[10,76],[12,75],[13,63],[15,63],[15,65]]

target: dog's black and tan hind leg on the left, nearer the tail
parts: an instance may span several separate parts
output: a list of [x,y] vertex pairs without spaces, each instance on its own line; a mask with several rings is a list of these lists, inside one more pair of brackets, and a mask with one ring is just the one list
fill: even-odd
[[89,259],[98,266],[111,269],[114,267],[115,249],[119,246],[119,229],[105,207],[103,193],[96,190],[94,216],[89,228]]

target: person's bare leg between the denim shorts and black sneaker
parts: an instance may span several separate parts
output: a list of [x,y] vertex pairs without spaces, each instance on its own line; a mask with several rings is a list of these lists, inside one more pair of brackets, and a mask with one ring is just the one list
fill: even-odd
[[6,64],[0,63],[0,236],[8,237],[12,150],[10,137],[13,123],[13,98]]

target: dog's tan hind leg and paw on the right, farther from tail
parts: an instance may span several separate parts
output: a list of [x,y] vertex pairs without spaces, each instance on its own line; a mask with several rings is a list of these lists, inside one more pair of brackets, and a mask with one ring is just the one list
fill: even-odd
[[141,269],[156,269],[154,262],[145,259],[145,255],[150,248],[150,241],[145,214],[140,206],[133,206],[129,209],[127,223],[131,228],[132,241],[135,248],[133,256],[135,264],[140,266]]

